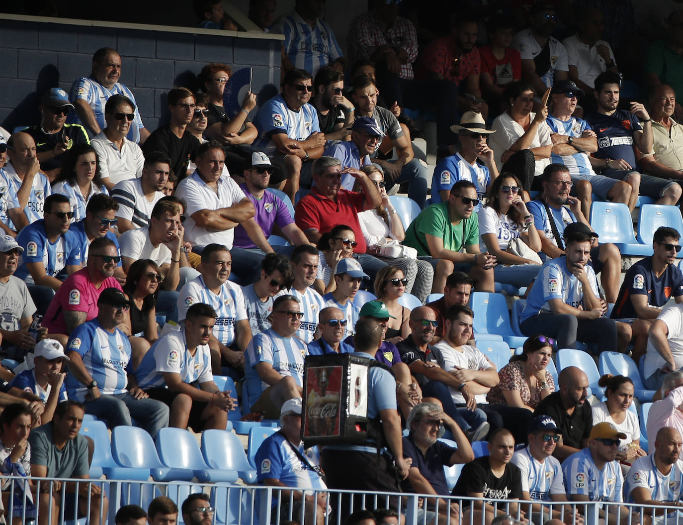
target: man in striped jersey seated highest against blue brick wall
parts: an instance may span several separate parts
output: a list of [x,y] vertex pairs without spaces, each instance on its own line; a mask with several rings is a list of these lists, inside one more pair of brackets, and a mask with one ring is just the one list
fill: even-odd
[[[135,105],[135,96],[125,84],[120,83],[121,56],[111,49],[102,47],[92,55],[92,72],[89,77],[74,80],[69,94],[76,109],[69,118],[70,123],[81,124],[91,137],[104,128],[104,106],[113,95],[127,96]],[[143,144],[150,132],[145,129],[140,113],[137,113],[126,137],[136,144]]]

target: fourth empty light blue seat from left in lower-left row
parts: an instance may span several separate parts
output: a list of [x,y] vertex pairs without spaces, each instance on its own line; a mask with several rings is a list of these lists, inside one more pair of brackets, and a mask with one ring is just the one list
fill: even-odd
[[226,430],[201,433],[201,453],[210,468],[236,470],[245,483],[256,483],[256,470],[249,464],[240,438]]

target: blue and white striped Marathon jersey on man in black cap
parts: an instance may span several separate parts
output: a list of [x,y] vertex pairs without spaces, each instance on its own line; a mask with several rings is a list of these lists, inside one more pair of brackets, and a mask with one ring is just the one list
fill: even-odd
[[[71,332],[66,351],[81,355],[85,370],[97,381],[102,394],[122,394],[128,386],[126,368],[130,362],[130,342],[119,328],[107,332],[97,318],[85,321]],[[66,375],[66,391],[69,399],[85,401],[87,385],[73,374]]]

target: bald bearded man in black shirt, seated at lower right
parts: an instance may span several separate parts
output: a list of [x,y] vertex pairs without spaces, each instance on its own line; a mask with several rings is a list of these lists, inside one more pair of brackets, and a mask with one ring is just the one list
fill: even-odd
[[555,421],[562,439],[553,455],[560,461],[588,446],[593,427],[593,412],[588,398],[588,377],[581,368],[568,366],[557,377],[559,390],[544,397],[534,416],[550,416]]

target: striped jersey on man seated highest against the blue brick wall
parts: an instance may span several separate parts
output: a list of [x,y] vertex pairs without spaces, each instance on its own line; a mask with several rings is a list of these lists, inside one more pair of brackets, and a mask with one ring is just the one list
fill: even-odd
[[[111,90],[109,90],[95,79],[81,77],[74,80],[74,83],[72,83],[69,100],[71,100],[72,103],[76,102],[76,100],[85,100],[85,102],[90,105],[92,112],[95,113],[95,118],[100,129],[104,129],[107,127],[106,122],[104,122],[104,105],[107,104],[107,100],[109,100],[110,96],[116,94],[127,96],[130,100],[133,100],[133,103],[135,104],[135,119],[130,123],[130,130],[128,131],[126,138],[137,144],[140,142],[140,130],[145,127],[145,125],[142,123],[140,109],[135,102],[135,96],[133,96],[133,92],[130,91],[125,84],[117,82],[113,85]],[[85,127],[85,124],[81,122],[76,111],[70,113],[67,122],[69,124],[81,124],[81,126]],[[92,137],[90,138],[92,139]]]

